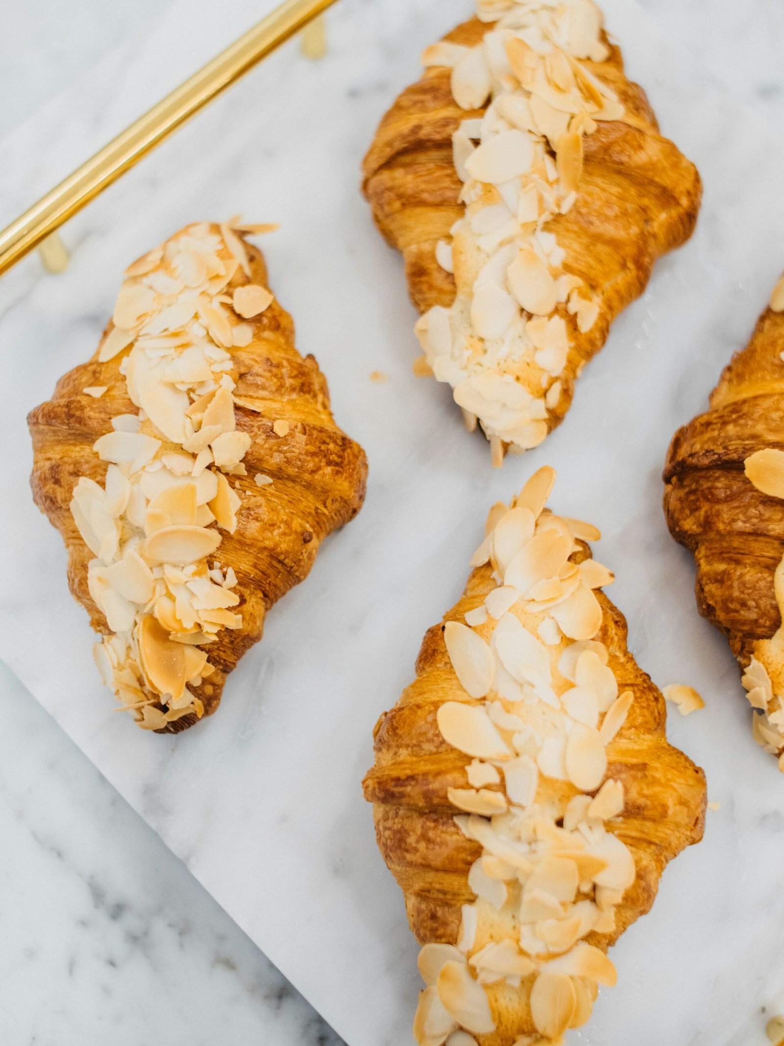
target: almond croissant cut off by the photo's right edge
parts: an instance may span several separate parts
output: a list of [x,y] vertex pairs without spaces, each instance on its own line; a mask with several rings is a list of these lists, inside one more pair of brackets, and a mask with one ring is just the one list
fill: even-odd
[[670,533],[694,555],[700,614],[730,640],[755,740],[784,771],[784,277],[710,409],[673,437]]

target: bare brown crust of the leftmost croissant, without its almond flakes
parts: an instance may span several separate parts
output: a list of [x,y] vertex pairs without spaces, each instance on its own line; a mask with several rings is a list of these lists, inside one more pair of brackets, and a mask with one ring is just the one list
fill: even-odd
[[[216,225],[209,227],[212,233],[218,229]],[[268,287],[260,251],[249,244],[245,250],[249,273],[237,269],[226,289],[228,295],[247,285]],[[230,566],[236,574],[236,610],[243,624],[238,630],[222,629],[216,640],[205,647],[214,670],[191,691],[201,700],[206,715],[217,708],[228,674],[261,638],[269,609],[304,579],[324,538],[356,515],[367,478],[364,451],[335,424],[327,384],[316,360],[301,357],[295,347],[289,313],[273,300],[245,322],[252,337],[246,346],[232,349],[232,372],[236,376],[236,430],[250,436],[244,458],[247,474],[231,477],[241,507],[234,532],[221,531],[216,556],[224,568]],[[101,345],[113,329],[110,322]],[[121,353],[101,363],[96,350],[90,362],[65,374],[52,399],[28,416],[34,453],[32,495],[63,537],[69,587],[99,634],[111,630],[88,590],[88,564],[93,553],[74,523],[69,504],[79,477],[100,484],[105,481],[107,462],[93,450],[96,439],[112,431],[117,415],[137,413],[120,371],[123,358]],[[95,387],[106,387],[98,399],[84,392]],[[287,423],[282,435],[276,431],[280,419]],[[256,476],[270,477],[272,482],[258,485]],[[177,732],[195,722],[197,715],[189,713],[165,729]]]

